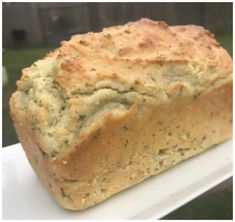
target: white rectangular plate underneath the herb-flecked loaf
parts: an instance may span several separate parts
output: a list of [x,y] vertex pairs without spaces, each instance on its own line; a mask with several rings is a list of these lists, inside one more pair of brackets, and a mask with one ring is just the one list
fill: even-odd
[[20,144],[3,149],[3,219],[158,219],[232,176],[232,140],[85,211],[59,207]]

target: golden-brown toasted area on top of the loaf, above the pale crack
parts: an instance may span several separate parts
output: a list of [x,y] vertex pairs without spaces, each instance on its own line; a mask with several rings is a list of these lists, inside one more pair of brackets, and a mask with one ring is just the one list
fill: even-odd
[[53,55],[63,60],[56,79],[67,93],[92,91],[90,85],[109,79],[121,84],[139,83],[143,87],[135,87],[151,94],[156,87],[167,87],[164,67],[170,72],[172,66],[183,67],[181,75],[203,84],[212,73],[214,81],[231,73],[230,56],[203,27],[169,27],[149,19],[105,28],[100,33],[75,35],[62,42]]

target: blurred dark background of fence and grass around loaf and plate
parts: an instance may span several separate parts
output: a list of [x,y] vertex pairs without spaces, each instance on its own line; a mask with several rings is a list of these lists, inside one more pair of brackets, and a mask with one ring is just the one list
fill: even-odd
[[[21,69],[75,33],[100,31],[141,17],[169,25],[197,24],[215,33],[232,55],[232,3],[2,3],[3,147],[18,142],[9,98]],[[165,219],[232,219],[232,182],[214,189]]]

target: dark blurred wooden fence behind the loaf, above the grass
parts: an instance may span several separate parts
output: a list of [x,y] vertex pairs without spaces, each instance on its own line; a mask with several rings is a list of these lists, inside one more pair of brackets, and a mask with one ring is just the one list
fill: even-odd
[[72,34],[141,17],[232,35],[232,3],[3,3],[3,46],[54,46]]

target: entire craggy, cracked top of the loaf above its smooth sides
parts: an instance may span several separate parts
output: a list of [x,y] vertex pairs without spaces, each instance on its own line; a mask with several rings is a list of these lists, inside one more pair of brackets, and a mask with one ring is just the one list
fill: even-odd
[[23,69],[11,113],[53,157],[107,116],[120,118],[133,106],[141,115],[149,104],[193,97],[231,79],[231,57],[203,27],[140,19],[74,35]]

